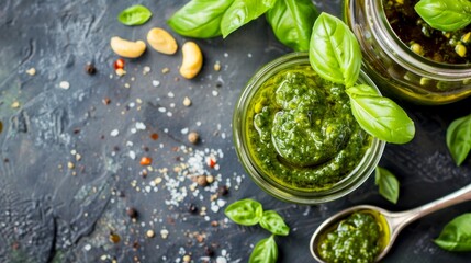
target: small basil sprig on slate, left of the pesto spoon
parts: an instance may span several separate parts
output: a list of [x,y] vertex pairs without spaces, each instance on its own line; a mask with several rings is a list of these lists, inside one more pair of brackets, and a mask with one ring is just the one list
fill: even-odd
[[254,226],[257,222],[272,235],[260,240],[250,254],[249,263],[273,263],[278,259],[278,247],[274,236],[288,236],[290,228],[283,218],[274,210],[266,210],[254,199],[240,199],[228,205],[224,214],[233,221],[243,226]]

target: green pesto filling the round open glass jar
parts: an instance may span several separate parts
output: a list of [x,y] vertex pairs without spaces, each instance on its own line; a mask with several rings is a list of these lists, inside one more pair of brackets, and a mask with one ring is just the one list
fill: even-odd
[[249,103],[246,133],[268,176],[306,192],[343,180],[372,140],[351,115],[345,88],[310,66],[287,69],[262,84]]

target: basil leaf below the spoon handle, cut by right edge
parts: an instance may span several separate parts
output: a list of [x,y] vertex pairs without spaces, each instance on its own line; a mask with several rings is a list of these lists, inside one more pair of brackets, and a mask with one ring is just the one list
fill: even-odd
[[444,250],[471,251],[471,213],[448,222],[434,241]]

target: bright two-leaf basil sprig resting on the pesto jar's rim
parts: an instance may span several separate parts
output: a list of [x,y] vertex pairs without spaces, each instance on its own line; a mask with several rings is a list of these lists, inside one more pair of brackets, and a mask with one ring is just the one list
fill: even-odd
[[414,138],[414,122],[403,108],[369,85],[355,85],[362,56],[357,38],[341,20],[327,13],[317,18],[309,56],[311,66],[322,78],[345,85],[351,112],[367,133],[393,144]]

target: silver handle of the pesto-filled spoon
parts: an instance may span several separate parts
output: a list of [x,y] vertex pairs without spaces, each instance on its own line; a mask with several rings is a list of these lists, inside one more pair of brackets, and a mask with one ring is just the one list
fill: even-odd
[[402,228],[423,216],[466,201],[471,201],[471,184],[417,208],[399,213],[397,219],[401,219],[396,220],[396,227]]

